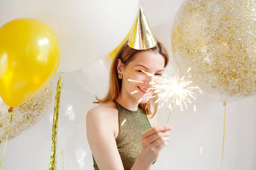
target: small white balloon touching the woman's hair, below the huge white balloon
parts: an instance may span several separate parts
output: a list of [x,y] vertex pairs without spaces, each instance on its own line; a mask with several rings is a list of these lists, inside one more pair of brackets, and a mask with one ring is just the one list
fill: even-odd
[[112,64],[110,56],[106,56],[78,71],[76,82],[91,94],[102,98],[108,90],[109,73]]

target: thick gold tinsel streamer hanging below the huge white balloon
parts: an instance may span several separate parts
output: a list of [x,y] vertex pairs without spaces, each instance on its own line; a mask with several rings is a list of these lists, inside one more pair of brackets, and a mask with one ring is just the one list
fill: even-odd
[[56,94],[55,94],[54,116],[53,116],[53,122],[52,122],[52,147],[51,147],[49,170],[56,169],[56,141],[57,141],[57,134],[58,134],[58,113],[59,113],[60,99],[61,99],[62,76],[63,76],[63,73],[60,73],[58,77],[59,79],[58,79],[58,84],[57,84]]

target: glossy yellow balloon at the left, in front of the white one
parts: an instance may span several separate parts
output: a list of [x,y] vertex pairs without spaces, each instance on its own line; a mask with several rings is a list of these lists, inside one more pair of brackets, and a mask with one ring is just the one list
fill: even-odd
[[41,21],[19,18],[0,28],[0,96],[17,107],[42,91],[58,69],[60,48]]

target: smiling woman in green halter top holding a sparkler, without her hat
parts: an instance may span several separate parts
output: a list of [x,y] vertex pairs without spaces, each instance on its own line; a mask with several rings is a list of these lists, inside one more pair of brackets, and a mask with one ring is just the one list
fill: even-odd
[[95,170],[154,170],[171,127],[157,126],[157,96],[151,88],[168,62],[160,42],[147,50],[122,45],[113,59],[108,93],[96,97],[100,105],[87,113]]

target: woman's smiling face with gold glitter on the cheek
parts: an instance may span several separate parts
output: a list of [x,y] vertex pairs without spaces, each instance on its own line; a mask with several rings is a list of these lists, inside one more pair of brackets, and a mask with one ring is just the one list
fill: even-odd
[[[165,59],[154,51],[142,51],[134,56],[128,65],[119,65],[117,71],[122,73],[122,90],[125,96],[134,101],[146,103],[154,95],[154,81],[158,80],[164,72]],[[151,76],[149,76],[151,75]],[[128,81],[128,79],[138,82]],[[131,94],[132,92],[138,91]]]

